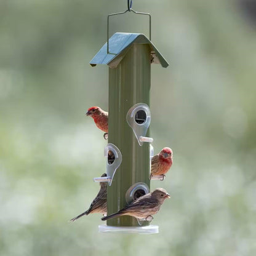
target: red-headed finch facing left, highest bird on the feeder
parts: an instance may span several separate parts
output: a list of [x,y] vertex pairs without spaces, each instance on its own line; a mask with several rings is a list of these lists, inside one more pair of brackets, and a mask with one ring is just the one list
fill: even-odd
[[86,116],[91,116],[98,129],[105,132],[104,138],[108,134],[108,112],[102,110],[99,106],[92,106],[86,112]]

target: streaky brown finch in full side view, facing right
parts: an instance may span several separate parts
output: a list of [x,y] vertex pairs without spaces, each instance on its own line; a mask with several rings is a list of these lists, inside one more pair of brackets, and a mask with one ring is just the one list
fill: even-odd
[[158,212],[166,198],[170,198],[167,191],[164,188],[157,188],[153,192],[145,194],[134,202],[131,202],[115,214],[103,217],[102,220],[108,220],[121,215],[130,215],[138,220],[152,220],[152,215]]

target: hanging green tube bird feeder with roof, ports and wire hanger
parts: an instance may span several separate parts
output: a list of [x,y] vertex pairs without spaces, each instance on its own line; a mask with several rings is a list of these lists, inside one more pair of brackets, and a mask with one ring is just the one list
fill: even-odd
[[[129,4],[127,11],[135,12]],[[117,14],[108,15],[108,21],[111,15]],[[108,215],[150,192],[151,64],[161,64],[164,68],[169,65],[150,39],[144,34],[115,33],[90,61],[92,66],[109,67],[107,177],[94,178],[95,182],[108,182]],[[111,159],[109,153],[113,153]],[[158,226],[121,216],[107,220],[106,225],[99,226],[99,231],[158,233]]]

